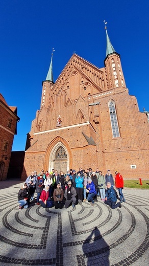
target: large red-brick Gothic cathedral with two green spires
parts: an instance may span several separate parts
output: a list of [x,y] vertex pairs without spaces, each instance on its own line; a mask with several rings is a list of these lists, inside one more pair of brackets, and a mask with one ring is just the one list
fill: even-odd
[[149,178],[148,112],[139,112],[129,95],[120,55],[105,29],[103,68],[73,54],[54,83],[52,54],[40,110],[27,135],[22,180],[32,170],[66,173],[79,167]]

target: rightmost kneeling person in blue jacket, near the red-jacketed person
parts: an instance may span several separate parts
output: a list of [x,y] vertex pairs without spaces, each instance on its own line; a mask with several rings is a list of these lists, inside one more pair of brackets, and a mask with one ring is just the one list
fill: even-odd
[[111,183],[107,183],[107,192],[105,197],[105,204],[109,205],[111,209],[115,209],[117,207],[121,208],[121,203],[117,202],[117,197],[115,195],[115,191],[113,186],[111,186]]

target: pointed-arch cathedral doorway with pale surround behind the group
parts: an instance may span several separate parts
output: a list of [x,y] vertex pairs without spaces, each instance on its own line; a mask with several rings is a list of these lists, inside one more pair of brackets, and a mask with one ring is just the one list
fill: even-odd
[[58,173],[60,171],[67,173],[69,169],[68,152],[62,143],[58,143],[51,152],[48,171],[52,171],[53,168],[58,170]]

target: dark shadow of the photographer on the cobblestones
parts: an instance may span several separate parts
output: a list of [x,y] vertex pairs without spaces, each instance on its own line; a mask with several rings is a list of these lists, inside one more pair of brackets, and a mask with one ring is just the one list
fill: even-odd
[[[86,266],[102,265],[109,266],[110,248],[102,237],[100,230],[95,227],[91,234],[85,239],[83,246],[83,258],[87,258]],[[84,260],[85,263],[85,260]]]

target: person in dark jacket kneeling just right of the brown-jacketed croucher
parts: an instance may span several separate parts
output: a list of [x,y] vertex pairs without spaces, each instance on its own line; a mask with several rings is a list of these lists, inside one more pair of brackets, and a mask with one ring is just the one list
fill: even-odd
[[65,190],[64,197],[66,198],[65,208],[68,208],[72,202],[72,207],[76,203],[77,192],[76,189],[72,187],[71,181],[68,182],[68,188]]

